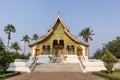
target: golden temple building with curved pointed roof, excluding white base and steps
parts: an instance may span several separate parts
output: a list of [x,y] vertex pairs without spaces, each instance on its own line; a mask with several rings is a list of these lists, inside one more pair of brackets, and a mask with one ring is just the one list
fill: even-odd
[[47,34],[29,44],[30,54],[39,55],[81,55],[88,57],[87,43],[83,43],[63,24],[60,15]]

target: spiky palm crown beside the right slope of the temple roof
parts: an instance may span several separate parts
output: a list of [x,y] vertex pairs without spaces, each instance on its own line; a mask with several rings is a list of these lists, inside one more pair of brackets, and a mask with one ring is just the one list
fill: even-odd
[[89,39],[93,40],[91,35],[95,35],[95,34],[93,33],[93,30],[90,30],[90,27],[87,27],[83,29],[78,36],[81,36],[84,42],[89,42]]

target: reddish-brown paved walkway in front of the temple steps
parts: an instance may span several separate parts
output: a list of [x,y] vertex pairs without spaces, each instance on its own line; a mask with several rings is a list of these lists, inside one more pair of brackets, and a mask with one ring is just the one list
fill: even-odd
[[5,80],[107,80],[92,73],[81,72],[32,72],[22,73]]

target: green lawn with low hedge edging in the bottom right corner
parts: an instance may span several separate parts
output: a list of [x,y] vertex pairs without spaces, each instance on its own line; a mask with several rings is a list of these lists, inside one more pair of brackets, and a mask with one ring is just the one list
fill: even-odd
[[120,70],[115,70],[112,74],[108,74],[106,71],[93,72],[93,74],[110,80],[120,80]]

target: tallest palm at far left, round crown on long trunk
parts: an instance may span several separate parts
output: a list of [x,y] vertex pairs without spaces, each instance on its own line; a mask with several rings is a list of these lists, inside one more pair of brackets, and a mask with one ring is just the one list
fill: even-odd
[[10,42],[10,39],[11,39],[11,32],[15,33],[16,30],[15,30],[14,25],[8,24],[7,26],[5,26],[4,31],[5,31],[6,34],[8,35],[8,42],[7,42],[7,51],[8,51],[9,42]]

